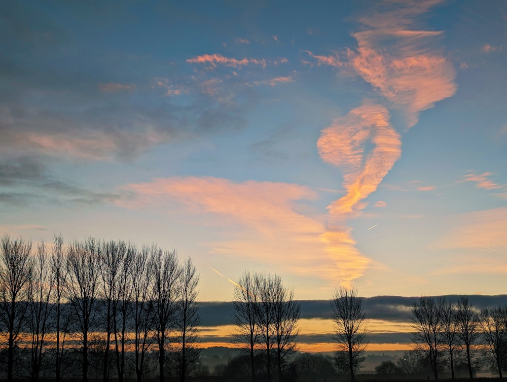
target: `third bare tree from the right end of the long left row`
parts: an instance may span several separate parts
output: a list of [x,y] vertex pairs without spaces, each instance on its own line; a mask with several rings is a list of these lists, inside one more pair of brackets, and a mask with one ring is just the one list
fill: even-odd
[[146,366],[146,357],[153,338],[150,330],[153,324],[153,265],[155,256],[159,256],[156,246],[143,246],[135,253],[132,267],[132,315],[134,331],[134,358],[137,382]]

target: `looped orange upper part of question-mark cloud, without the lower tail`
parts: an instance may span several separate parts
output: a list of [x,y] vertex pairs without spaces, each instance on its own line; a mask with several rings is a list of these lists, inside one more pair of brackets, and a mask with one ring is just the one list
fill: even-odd
[[[365,156],[365,144],[374,148]],[[322,130],[317,142],[320,157],[342,167],[347,193],[328,208],[331,214],[350,214],[363,205],[401,155],[400,134],[389,124],[387,109],[364,105]]]

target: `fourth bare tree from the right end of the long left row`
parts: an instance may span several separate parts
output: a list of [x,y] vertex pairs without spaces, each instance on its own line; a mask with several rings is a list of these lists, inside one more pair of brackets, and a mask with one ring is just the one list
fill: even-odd
[[120,269],[116,282],[116,307],[113,316],[115,333],[116,370],[119,382],[125,377],[125,355],[128,340],[127,325],[131,319],[131,299],[133,295],[132,272],[137,248],[134,245],[118,242],[120,252]]

